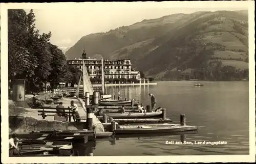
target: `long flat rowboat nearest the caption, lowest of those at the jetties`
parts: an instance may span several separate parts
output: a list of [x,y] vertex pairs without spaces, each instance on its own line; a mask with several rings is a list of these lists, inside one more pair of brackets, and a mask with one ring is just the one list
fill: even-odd
[[145,124],[145,125],[121,125],[114,131],[115,134],[133,133],[169,133],[179,131],[197,130],[198,126],[181,126],[179,124]]

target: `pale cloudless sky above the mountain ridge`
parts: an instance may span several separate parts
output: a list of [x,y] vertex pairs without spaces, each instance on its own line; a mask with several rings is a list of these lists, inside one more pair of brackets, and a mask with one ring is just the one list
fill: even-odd
[[[108,32],[119,26],[131,25],[143,19],[154,19],[176,13],[197,11],[246,10],[247,8],[181,8],[181,7],[134,7],[115,5],[86,5],[76,7],[67,5],[51,8],[33,9],[36,28],[41,33],[52,32],[51,42],[60,48],[73,46],[81,37],[100,32]],[[28,12],[29,9],[26,9]]]

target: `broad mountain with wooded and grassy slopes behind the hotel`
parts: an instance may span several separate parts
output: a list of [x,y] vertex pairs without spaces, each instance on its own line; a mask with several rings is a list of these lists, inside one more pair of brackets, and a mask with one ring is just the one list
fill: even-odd
[[156,79],[171,79],[176,71],[191,73],[212,61],[248,69],[248,11],[201,11],[142,20],[81,37],[66,51],[67,59],[81,57],[84,46],[89,57],[129,58],[134,69]]

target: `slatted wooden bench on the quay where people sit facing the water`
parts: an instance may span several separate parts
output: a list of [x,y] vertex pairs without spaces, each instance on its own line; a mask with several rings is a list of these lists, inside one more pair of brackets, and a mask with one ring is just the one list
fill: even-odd
[[[39,113],[39,116],[42,116],[42,119],[45,119],[47,116],[54,116],[54,119],[60,119],[60,116],[57,116],[57,108],[56,107],[51,107],[51,106],[43,106],[40,107],[42,110],[38,110],[37,112]],[[72,111],[70,108],[58,108],[59,110],[65,110],[65,115],[66,115],[66,121],[71,121],[72,117]],[[49,111],[48,111],[49,110]],[[56,117],[57,116],[57,117]],[[63,118],[63,117],[61,117]],[[62,119],[61,119],[62,120]]]

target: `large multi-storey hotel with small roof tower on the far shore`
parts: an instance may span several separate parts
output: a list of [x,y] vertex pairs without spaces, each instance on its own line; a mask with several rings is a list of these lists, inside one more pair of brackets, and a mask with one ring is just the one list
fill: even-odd
[[[86,58],[83,60],[84,64],[87,67],[87,71],[90,77],[92,78],[101,78],[101,60]],[[68,60],[68,64],[74,65],[80,70],[82,70],[82,59],[75,58],[73,60]],[[133,70],[131,60],[130,59],[122,59],[116,61],[104,60],[104,76],[106,79],[108,78],[135,78],[137,80],[140,79],[140,72]]]

